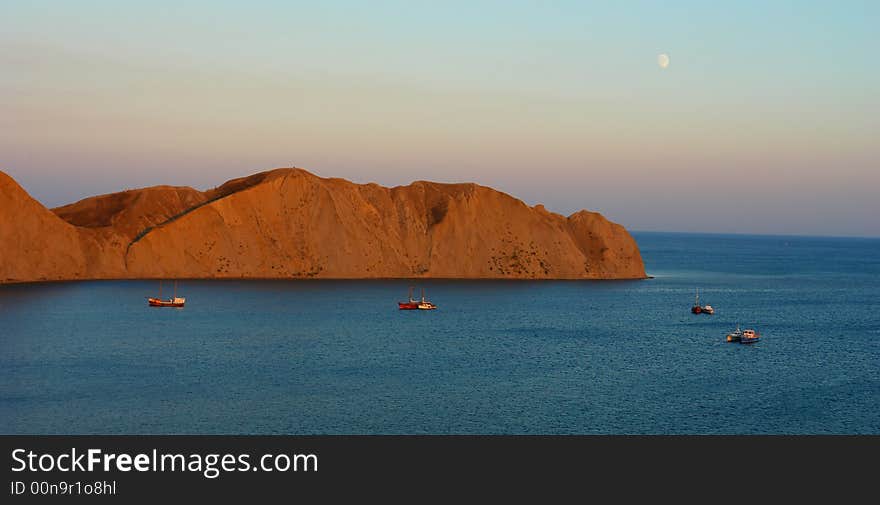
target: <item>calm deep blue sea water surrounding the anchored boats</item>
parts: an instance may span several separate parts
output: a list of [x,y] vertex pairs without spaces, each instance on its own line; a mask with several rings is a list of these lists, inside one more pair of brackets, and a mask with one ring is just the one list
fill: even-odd
[[407,281],[0,286],[0,432],[880,433],[880,240],[636,238],[652,280],[422,282],[433,312]]

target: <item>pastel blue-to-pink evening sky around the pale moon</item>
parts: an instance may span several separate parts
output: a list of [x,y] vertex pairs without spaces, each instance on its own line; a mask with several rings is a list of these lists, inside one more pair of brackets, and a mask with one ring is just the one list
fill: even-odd
[[0,170],[49,207],[297,166],[880,236],[877,26],[868,1],[0,0]]

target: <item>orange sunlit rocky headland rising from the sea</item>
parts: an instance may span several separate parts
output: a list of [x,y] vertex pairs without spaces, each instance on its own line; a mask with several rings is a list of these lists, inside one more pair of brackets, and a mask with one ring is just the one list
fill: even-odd
[[49,211],[0,172],[0,282],[87,278],[640,279],[635,240],[476,184],[278,169]]

